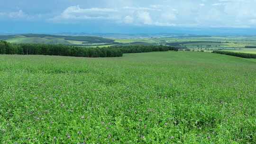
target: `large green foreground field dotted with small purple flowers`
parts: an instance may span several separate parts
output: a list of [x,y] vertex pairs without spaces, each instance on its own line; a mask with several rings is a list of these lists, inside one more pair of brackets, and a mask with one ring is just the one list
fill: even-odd
[[1,144],[255,144],[256,61],[0,55]]

